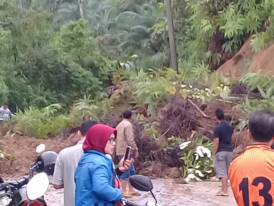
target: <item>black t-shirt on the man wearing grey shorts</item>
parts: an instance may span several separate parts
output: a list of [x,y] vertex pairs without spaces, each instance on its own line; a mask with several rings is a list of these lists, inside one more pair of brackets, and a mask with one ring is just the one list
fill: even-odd
[[213,138],[219,137],[219,148],[217,152],[232,152],[233,146],[231,136],[233,134],[233,126],[227,121],[221,121],[214,127]]

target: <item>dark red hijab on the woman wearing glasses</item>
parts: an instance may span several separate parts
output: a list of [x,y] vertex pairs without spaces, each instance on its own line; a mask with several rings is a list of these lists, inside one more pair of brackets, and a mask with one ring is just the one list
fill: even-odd
[[96,150],[105,154],[105,145],[112,133],[114,133],[116,138],[116,129],[105,124],[95,124],[87,132],[83,150]]

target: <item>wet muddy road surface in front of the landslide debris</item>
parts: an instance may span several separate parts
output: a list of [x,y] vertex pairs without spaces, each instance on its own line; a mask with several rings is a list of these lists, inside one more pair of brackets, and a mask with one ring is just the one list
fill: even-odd
[[[192,182],[191,184],[175,184],[172,179],[152,180],[153,192],[158,203],[164,206],[236,206],[231,188],[229,197],[218,197],[215,194],[220,189],[221,182]],[[52,186],[45,194],[48,206],[63,206],[63,191],[55,190]],[[148,200],[153,200],[150,193],[142,192],[139,197],[129,200],[140,205],[145,205]]]

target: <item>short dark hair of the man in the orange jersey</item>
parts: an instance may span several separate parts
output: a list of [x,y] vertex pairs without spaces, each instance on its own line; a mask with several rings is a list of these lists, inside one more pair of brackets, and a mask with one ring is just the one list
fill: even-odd
[[254,140],[269,142],[274,137],[274,112],[265,109],[252,113],[248,127]]

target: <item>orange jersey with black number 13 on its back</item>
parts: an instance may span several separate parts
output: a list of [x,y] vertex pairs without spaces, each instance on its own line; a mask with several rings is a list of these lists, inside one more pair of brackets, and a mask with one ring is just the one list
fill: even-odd
[[248,146],[231,163],[229,179],[238,206],[274,206],[274,151]]

